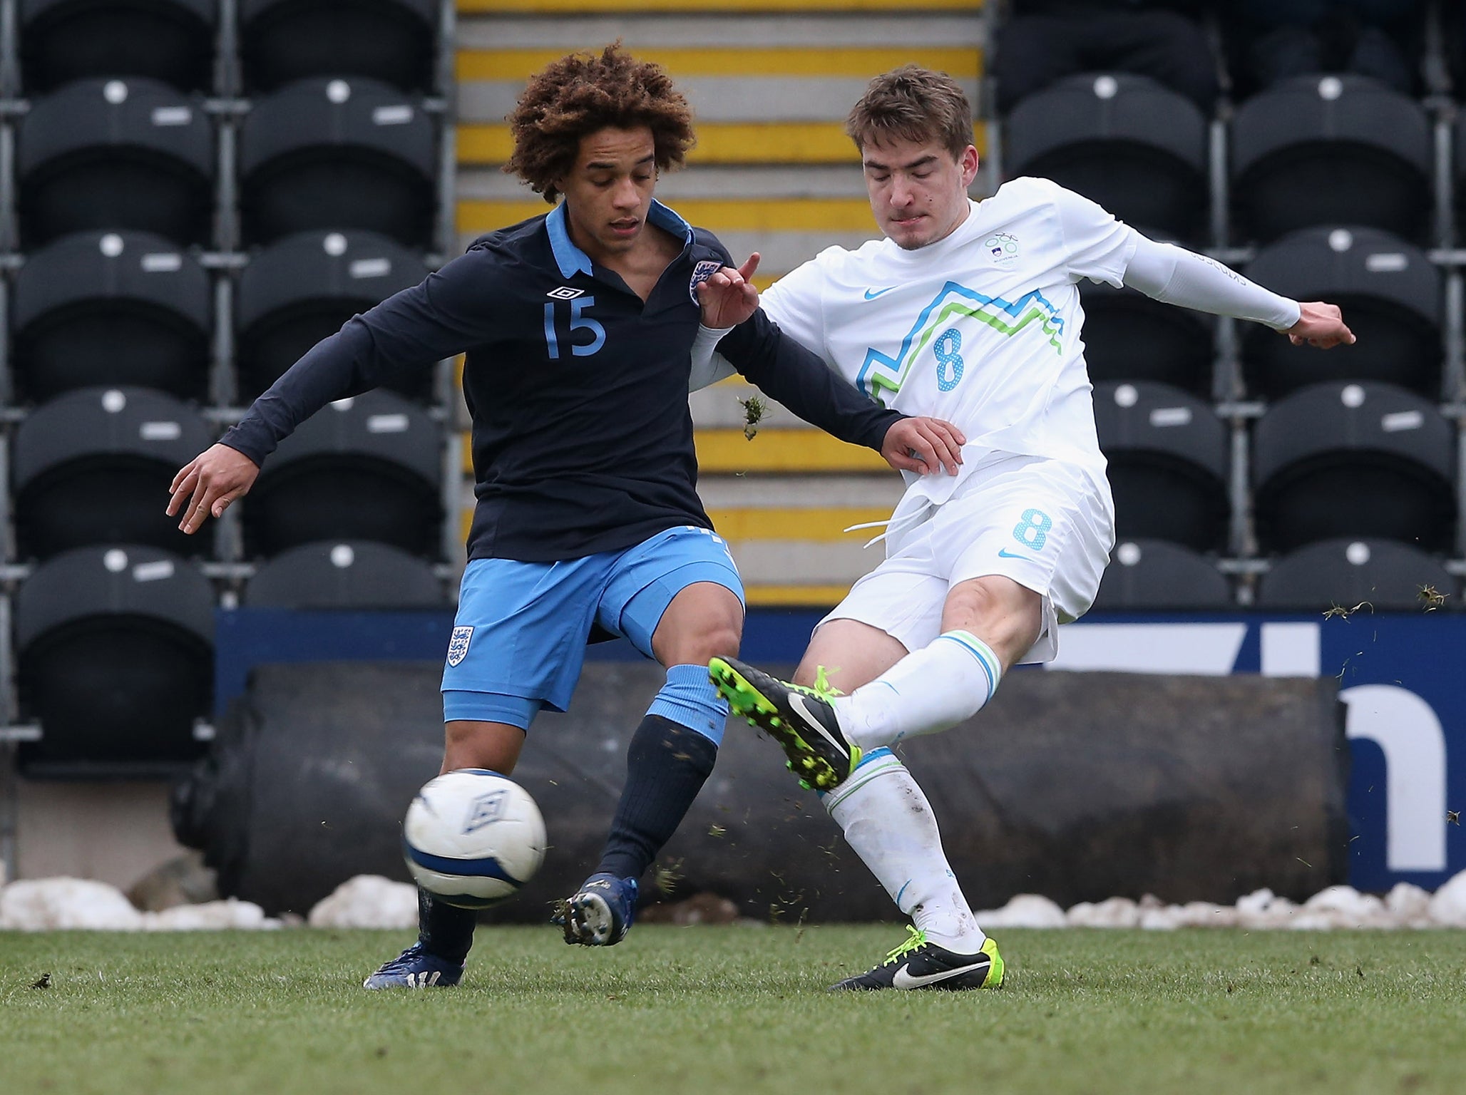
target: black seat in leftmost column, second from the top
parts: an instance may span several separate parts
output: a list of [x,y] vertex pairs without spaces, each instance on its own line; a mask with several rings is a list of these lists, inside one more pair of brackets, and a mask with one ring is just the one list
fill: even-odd
[[151,79],[86,79],[37,98],[21,119],[26,248],[92,229],[207,243],[214,130],[198,103]]

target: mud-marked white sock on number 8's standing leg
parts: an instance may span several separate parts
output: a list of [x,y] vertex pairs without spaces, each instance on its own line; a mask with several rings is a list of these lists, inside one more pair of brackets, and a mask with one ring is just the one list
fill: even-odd
[[905,764],[888,749],[875,749],[822,802],[850,847],[928,940],[959,954],[978,953],[987,937],[947,865],[937,815]]

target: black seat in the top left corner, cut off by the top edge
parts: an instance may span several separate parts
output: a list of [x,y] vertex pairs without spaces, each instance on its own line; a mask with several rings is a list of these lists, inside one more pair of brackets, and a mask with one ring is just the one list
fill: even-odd
[[34,92],[89,76],[213,84],[218,0],[22,0],[21,72]]

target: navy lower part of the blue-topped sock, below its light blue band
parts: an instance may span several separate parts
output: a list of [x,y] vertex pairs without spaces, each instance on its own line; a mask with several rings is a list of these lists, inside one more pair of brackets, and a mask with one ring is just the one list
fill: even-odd
[[597,871],[641,878],[677,831],[717,756],[717,743],[705,734],[648,714],[626,751],[626,786]]

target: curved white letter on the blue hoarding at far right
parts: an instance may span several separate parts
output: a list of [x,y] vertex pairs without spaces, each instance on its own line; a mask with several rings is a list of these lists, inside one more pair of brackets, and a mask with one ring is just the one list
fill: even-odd
[[1356,685],[1338,698],[1349,704],[1346,733],[1384,751],[1385,866],[1391,871],[1445,869],[1445,731],[1434,708],[1394,685]]

